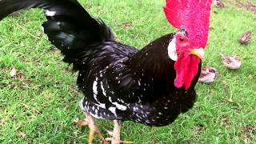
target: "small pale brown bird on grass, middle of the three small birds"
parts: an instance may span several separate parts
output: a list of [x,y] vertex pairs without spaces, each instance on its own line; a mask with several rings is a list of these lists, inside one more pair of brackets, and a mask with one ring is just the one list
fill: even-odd
[[218,54],[221,56],[224,66],[226,66],[228,69],[236,70],[242,64],[241,58],[239,58],[237,55],[226,55],[220,52],[218,52]]

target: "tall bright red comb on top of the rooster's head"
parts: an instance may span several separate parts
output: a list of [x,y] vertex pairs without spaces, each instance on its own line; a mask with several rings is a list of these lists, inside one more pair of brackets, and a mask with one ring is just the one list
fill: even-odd
[[164,12],[176,28],[185,26],[191,48],[205,47],[212,0],[166,0]]

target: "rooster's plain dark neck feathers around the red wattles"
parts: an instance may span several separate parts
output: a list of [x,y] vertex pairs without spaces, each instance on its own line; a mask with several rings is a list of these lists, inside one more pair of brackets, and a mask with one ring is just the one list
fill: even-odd
[[[149,45],[138,51],[137,54],[134,54],[127,61],[127,66],[129,66],[134,79],[141,83],[154,83],[156,87],[153,86],[153,89],[178,90],[174,86],[174,79],[176,77],[176,71],[174,70],[175,62],[168,56],[168,46],[173,38],[174,34],[166,34],[154,40],[154,42],[150,42]],[[194,90],[200,74],[200,68],[201,62],[198,66],[198,74],[191,83],[190,90]]]

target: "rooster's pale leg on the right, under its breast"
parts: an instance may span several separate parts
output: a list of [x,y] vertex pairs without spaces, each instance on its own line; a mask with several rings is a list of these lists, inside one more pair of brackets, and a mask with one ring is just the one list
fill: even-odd
[[111,144],[120,144],[120,143],[133,143],[133,142],[126,142],[120,140],[120,129],[121,126],[118,123],[118,120],[114,120],[114,130],[111,132],[112,138],[106,138],[106,141],[111,141]]

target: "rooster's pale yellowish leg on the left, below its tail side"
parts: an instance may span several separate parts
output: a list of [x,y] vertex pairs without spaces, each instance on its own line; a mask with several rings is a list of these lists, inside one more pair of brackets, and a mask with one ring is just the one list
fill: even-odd
[[85,115],[86,115],[86,122],[90,128],[88,143],[92,144],[93,140],[94,140],[94,134],[97,134],[98,138],[100,138],[102,140],[102,142],[104,142],[104,144],[106,144],[107,142],[106,142],[105,138],[102,136],[101,132],[98,130],[98,126],[94,122],[94,119],[90,116],[89,113],[85,113]]

